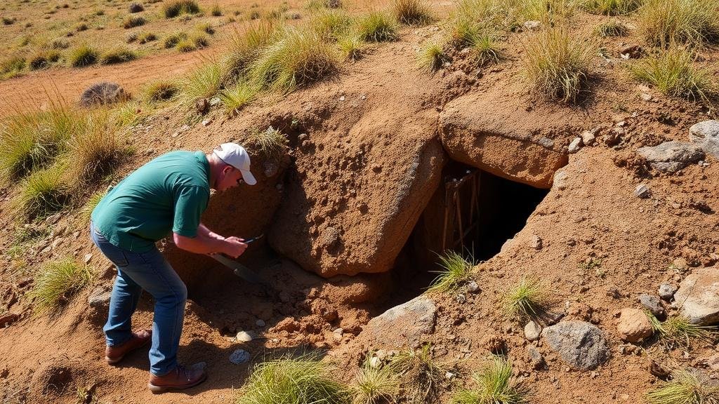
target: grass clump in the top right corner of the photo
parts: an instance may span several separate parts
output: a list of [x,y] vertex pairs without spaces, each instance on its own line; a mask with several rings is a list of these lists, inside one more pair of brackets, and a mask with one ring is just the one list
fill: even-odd
[[637,23],[649,45],[702,45],[719,40],[719,7],[714,1],[646,0]]

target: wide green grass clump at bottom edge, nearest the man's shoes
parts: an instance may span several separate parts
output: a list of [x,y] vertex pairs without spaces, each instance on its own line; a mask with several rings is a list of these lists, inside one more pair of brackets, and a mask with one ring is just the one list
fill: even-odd
[[315,355],[257,364],[237,404],[347,404],[349,389]]

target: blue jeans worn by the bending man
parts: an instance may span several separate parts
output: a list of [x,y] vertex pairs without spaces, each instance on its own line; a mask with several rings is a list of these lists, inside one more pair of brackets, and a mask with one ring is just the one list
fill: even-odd
[[107,345],[122,345],[132,337],[132,313],[140,293],[147,290],[155,298],[150,372],[157,376],[168,374],[177,366],[187,300],[185,284],[156,247],[142,253],[115,247],[93,224],[90,224],[90,237],[117,268],[110,313],[103,328]]

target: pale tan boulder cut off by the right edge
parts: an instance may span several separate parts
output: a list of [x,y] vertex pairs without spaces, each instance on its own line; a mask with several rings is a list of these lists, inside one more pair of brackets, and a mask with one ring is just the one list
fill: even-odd
[[703,326],[719,323],[719,268],[694,270],[679,285],[674,301],[682,316],[692,323]]

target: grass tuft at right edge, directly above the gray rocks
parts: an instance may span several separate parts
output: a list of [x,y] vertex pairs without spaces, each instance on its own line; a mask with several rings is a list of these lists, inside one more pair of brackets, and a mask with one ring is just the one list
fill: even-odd
[[638,60],[630,70],[636,80],[667,96],[710,101],[719,94],[712,71],[697,67],[693,52],[677,45]]

